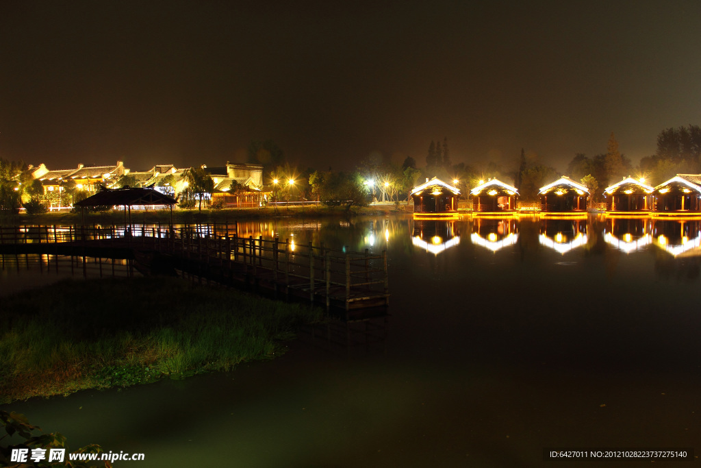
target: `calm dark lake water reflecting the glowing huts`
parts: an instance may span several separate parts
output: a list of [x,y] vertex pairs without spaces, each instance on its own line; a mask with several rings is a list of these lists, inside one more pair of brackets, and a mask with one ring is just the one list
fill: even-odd
[[[230,373],[8,408],[72,447],[146,454],[116,467],[538,467],[547,447],[701,454],[699,221],[238,228],[387,250],[388,323],[354,326],[350,343],[343,326],[306,329],[279,359]],[[44,268],[0,281],[45,279]]]

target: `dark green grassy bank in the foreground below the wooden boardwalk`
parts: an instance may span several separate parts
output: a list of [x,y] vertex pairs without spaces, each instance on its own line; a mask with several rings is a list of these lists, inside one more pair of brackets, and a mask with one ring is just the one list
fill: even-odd
[[0,403],[182,378],[280,354],[320,309],[161,277],[3,298]]

